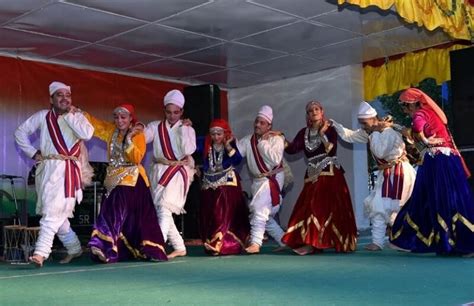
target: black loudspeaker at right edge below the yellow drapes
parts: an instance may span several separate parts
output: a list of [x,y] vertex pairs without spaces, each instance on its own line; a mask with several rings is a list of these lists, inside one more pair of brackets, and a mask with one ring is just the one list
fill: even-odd
[[474,48],[450,52],[453,136],[459,149],[474,147]]

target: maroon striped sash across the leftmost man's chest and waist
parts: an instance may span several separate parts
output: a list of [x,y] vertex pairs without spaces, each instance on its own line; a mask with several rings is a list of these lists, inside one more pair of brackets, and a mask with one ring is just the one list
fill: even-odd
[[[76,142],[71,149],[67,148],[64,137],[59,129],[58,117],[52,110],[46,115],[46,123],[56,151],[64,156],[79,157],[81,153],[81,141]],[[76,196],[76,190],[81,189],[81,170],[76,161],[66,159],[65,162],[64,192],[66,198],[74,198]]]

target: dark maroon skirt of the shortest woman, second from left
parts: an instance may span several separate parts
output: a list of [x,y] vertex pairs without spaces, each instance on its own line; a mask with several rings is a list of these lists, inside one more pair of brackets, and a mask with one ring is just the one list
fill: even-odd
[[207,253],[231,255],[242,252],[250,224],[240,180],[237,186],[202,191],[199,229]]

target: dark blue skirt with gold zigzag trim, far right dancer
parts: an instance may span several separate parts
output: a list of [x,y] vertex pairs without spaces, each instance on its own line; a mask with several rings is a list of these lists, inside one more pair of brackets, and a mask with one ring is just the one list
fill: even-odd
[[474,198],[459,156],[425,155],[413,193],[398,213],[391,242],[412,252],[474,252]]

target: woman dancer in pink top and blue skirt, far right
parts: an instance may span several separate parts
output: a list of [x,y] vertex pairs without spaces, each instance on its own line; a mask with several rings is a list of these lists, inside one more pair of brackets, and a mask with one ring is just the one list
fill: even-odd
[[391,242],[412,252],[474,256],[474,199],[470,176],[447,128],[447,118],[423,91],[400,96],[423,150],[411,198],[398,214]]

